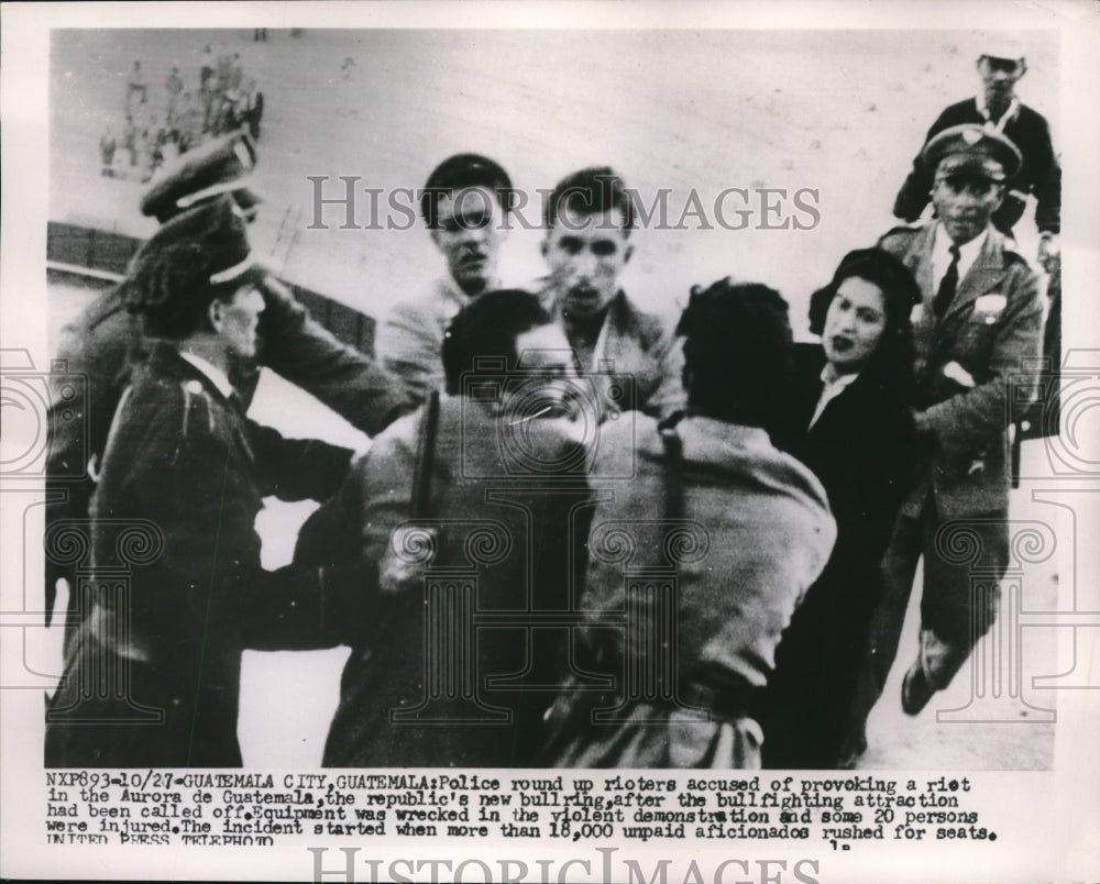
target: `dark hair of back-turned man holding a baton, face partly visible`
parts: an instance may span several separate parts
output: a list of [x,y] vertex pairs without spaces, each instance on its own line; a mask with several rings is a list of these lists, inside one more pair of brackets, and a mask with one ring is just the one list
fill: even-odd
[[537,295],[517,288],[480,295],[451,321],[443,336],[443,373],[447,391],[457,396],[462,375],[475,369],[475,361],[503,361],[494,373],[516,367],[516,339],[526,331],[549,325],[553,317]]

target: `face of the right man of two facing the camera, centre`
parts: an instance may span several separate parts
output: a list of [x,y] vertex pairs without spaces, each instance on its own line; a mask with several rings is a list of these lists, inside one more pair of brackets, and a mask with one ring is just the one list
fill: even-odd
[[542,256],[554,297],[568,313],[596,316],[615,297],[632,251],[625,222],[620,209],[597,214],[561,209],[542,241]]

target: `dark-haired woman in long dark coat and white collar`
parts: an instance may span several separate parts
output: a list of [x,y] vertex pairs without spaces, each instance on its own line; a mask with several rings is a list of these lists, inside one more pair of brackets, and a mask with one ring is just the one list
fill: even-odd
[[790,450],[825,486],[838,533],[776,653],[760,709],[768,767],[848,766],[862,750],[848,714],[915,455],[909,317],[920,301],[912,274],[879,248],[845,255],[810,301],[822,343],[795,347]]

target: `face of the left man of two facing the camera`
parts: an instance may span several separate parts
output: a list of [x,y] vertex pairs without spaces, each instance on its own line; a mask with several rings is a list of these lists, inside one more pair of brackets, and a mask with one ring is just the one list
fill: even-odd
[[487,187],[465,187],[439,199],[431,241],[468,295],[481,295],[495,285],[501,243],[507,234],[503,220],[497,196]]

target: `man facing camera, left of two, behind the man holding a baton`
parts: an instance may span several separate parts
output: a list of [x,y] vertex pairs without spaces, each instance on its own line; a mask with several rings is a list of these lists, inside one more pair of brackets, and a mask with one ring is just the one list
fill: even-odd
[[508,174],[479,154],[450,156],[428,176],[420,214],[447,261],[447,275],[427,294],[395,303],[374,342],[382,365],[405,382],[418,402],[443,387],[440,353],[448,323],[482,292],[497,287],[512,197]]

